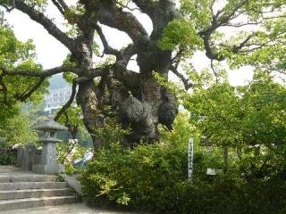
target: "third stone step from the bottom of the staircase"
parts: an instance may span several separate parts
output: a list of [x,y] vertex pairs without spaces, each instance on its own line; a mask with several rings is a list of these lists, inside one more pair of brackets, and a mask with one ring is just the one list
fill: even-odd
[[17,182],[0,183],[0,191],[25,190],[25,189],[63,189],[67,187],[66,182]]

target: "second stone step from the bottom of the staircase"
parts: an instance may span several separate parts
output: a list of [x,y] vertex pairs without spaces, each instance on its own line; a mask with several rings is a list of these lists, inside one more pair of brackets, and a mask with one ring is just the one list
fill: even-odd
[[8,191],[0,191],[0,200],[63,196],[63,195],[69,195],[70,193],[71,191],[69,191],[67,188],[8,190]]

